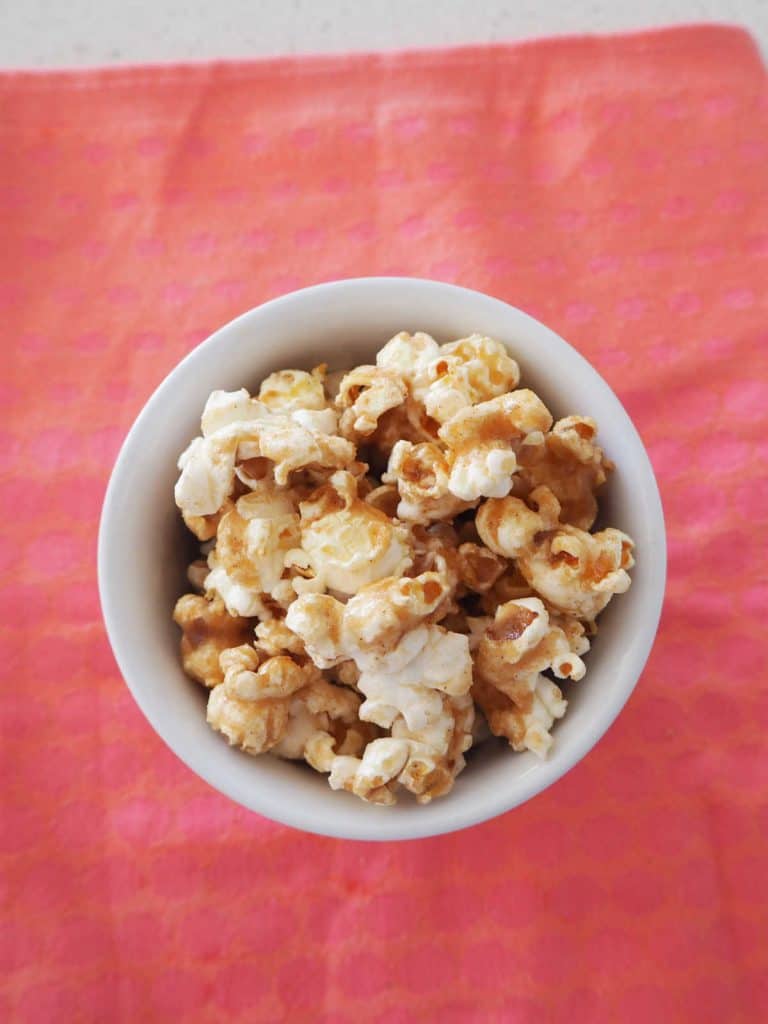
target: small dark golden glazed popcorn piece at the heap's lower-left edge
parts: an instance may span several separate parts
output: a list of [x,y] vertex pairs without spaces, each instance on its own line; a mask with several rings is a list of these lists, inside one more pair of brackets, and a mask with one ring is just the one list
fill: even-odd
[[217,686],[224,678],[219,655],[245,643],[253,623],[230,615],[221,598],[213,600],[184,594],[176,601],[173,621],[181,629],[181,665],[187,676],[204,686]]

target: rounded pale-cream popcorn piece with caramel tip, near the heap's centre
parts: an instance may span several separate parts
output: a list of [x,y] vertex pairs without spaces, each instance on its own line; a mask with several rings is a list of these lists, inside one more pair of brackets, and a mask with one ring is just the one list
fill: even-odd
[[331,590],[361,587],[413,562],[408,529],[357,497],[350,473],[336,473],[301,503],[301,548],[314,578]]

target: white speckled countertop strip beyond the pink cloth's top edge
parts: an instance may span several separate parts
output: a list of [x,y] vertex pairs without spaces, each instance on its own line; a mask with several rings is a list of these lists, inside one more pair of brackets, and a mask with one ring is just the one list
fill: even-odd
[[0,68],[446,46],[702,20],[741,25],[768,52],[768,0],[0,0]]

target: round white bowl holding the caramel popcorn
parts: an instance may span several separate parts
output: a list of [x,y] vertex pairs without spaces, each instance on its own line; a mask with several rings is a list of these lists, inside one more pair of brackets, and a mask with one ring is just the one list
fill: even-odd
[[[206,692],[181,671],[171,621],[186,589],[193,544],[173,503],[176,459],[199,432],[210,391],[254,389],[273,370],[371,361],[398,331],[449,341],[474,331],[509,345],[523,384],[555,417],[595,417],[616,463],[601,502],[606,523],[630,534],[637,566],[629,592],[600,620],[586,678],[568,688],[549,758],[493,739],[470,752],[453,792],[427,806],[403,795],[374,807],[330,790],[325,775],[278,758],[231,750],[206,724]],[[605,381],[530,316],[478,292],[433,281],[364,278],[294,292],[221,328],[163,381],[131,428],[106,492],[98,583],[115,656],[136,702],[171,750],[211,785],[259,814],[347,839],[415,839],[463,828],[551,785],[603,735],[632,692],[655,635],[666,574],[664,515],[648,456]]]

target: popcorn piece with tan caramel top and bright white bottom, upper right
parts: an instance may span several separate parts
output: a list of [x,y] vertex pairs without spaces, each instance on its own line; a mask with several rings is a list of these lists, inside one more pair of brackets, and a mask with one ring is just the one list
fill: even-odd
[[453,416],[439,430],[451,450],[449,489],[464,501],[504,498],[512,487],[517,453],[542,443],[552,417],[532,391],[521,389]]

